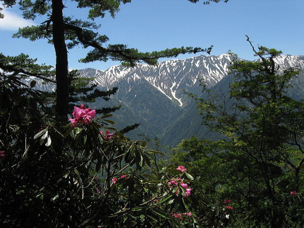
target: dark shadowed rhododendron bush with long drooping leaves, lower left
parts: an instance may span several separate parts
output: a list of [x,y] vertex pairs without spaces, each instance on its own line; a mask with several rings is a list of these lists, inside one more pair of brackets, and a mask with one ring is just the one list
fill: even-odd
[[[2,227],[197,223],[194,217],[179,221],[172,216],[187,212],[191,199],[168,187],[172,177],[188,181],[191,175],[173,166],[155,169],[151,160],[162,153],[108,127],[111,115],[75,127],[58,126],[45,93],[22,83],[28,75],[20,75],[20,68],[0,74],[0,117],[5,120],[0,122],[0,151],[5,151],[0,157]],[[115,134],[106,138],[109,133],[100,130]]]

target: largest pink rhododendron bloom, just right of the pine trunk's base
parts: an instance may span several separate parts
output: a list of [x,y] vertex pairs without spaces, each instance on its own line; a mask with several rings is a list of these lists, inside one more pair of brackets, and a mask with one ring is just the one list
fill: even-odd
[[85,105],[81,104],[80,107],[74,106],[72,115],[74,119],[68,119],[72,123],[72,127],[75,127],[77,123],[89,125],[96,115],[96,110],[86,108]]

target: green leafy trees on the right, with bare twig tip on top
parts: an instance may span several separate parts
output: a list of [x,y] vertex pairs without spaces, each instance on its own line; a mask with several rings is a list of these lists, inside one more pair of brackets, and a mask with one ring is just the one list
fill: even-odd
[[[279,71],[274,59],[280,51],[251,47],[260,61],[235,58],[230,96],[223,88],[205,90],[209,98],[196,98],[205,125],[225,140],[182,141],[175,159],[198,167],[192,170],[203,176],[198,200],[232,200],[236,226],[301,227],[302,197],[289,193],[303,191],[304,103],[286,93],[299,71]],[[215,192],[210,198],[209,189]]]

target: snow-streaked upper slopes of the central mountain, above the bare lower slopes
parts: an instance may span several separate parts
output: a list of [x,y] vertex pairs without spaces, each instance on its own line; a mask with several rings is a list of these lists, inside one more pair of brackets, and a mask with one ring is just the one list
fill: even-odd
[[199,87],[200,79],[210,87],[215,85],[227,75],[232,60],[232,56],[227,54],[201,55],[183,60],[167,60],[155,66],[139,64],[130,68],[117,65],[107,70],[87,68],[78,72],[82,77],[95,77],[94,83],[101,89],[124,84],[128,88],[119,87],[119,90],[130,92],[134,86],[143,81],[148,82],[168,99],[183,106],[186,97],[183,91],[192,92]]

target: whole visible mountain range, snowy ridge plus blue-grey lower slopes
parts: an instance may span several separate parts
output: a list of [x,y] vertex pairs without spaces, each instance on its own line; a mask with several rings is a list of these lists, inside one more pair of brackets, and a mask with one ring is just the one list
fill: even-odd
[[[145,133],[148,137],[159,137],[165,144],[174,145],[182,138],[193,134],[200,136],[200,132],[203,132],[195,102],[184,92],[200,95],[201,80],[211,90],[213,87],[227,86],[230,80],[225,78],[232,61],[233,57],[228,54],[201,55],[167,60],[156,66],[140,64],[128,68],[117,65],[107,70],[87,68],[78,72],[82,77],[94,77],[94,83],[101,90],[119,88],[110,101],[98,100],[95,103],[95,107],[122,105],[113,117],[119,130],[140,123],[138,129],[129,133],[129,137],[138,138],[137,134]],[[277,63],[280,70],[291,66],[303,70],[304,56],[282,55],[277,58]],[[303,73],[292,82],[297,91],[304,91],[302,76]],[[41,82],[36,87],[45,91],[55,89],[54,85]],[[294,95],[298,96],[299,93],[304,95],[304,92],[295,92]]]

